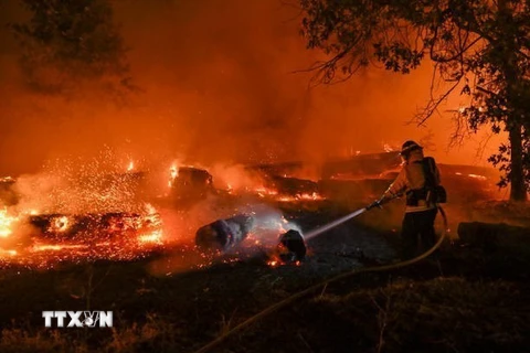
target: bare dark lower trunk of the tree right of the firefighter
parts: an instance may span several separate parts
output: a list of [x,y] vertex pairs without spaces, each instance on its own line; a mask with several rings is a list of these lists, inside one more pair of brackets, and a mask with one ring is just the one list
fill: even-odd
[[510,200],[511,201],[527,201],[527,188],[524,185],[524,173],[522,165],[522,136],[521,125],[512,124],[509,129],[510,139],[510,163],[511,171],[508,178],[510,179]]

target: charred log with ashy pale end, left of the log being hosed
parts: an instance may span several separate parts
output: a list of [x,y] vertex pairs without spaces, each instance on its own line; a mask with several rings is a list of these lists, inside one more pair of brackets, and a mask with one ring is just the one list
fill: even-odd
[[243,242],[253,226],[254,218],[246,214],[218,220],[197,231],[195,245],[202,250],[226,252]]

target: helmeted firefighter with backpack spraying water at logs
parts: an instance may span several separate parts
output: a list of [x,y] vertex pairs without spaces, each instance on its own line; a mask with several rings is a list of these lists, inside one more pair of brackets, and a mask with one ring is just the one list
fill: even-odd
[[404,142],[400,156],[403,168],[375,205],[405,194],[402,259],[411,259],[436,243],[434,221],[438,212],[436,186],[439,185],[439,171],[434,159],[424,157],[423,148],[414,141]]

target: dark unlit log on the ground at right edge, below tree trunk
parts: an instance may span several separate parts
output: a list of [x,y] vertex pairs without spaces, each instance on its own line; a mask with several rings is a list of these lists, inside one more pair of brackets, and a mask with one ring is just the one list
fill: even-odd
[[528,242],[530,228],[505,223],[469,222],[458,224],[458,237],[462,243],[488,250],[502,246],[518,246]]

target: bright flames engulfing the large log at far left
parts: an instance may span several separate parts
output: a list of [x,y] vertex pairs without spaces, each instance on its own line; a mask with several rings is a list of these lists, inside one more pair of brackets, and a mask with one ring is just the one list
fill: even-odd
[[0,243],[0,264],[47,268],[57,261],[141,257],[163,245],[159,214],[150,204],[146,204],[145,210],[145,214],[94,215],[30,215],[23,212],[20,217],[1,210],[1,237],[12,234],[14,222],[33,224],[41,234],[32,235],[31,245],[21,248],[7,249]]

